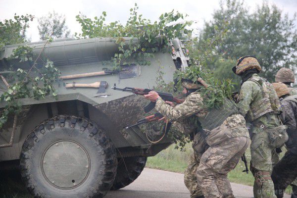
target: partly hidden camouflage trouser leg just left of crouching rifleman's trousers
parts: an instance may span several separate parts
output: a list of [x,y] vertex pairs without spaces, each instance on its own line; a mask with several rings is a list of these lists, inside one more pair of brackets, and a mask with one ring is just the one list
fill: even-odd
[[197,198],[202,196],[202,191],[200,186],[198,185],[197,180],[197,169],[200,163],[200,156],[198,154],[192,153],[189,159],[188,167],[185,171],[184,183],[186,187],[189,189],[191,198]]

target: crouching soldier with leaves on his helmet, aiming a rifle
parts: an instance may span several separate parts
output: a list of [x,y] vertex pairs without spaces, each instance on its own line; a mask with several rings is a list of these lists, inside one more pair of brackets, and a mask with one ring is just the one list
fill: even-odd
[[205,198],[234,198],[227,174],[250,145],[246,121],[229,99],[220,108],[208,109],[204,103],[206,96],[200,94],[202,83],[182,79],[182,84],[184,93],[194,87],[197,91],[176,107],[168,105],[156,92],[145,97],[156,102],[155,109],[169,121],[183,124],[183,121],[195,118],[192,123],[198,122],[205,129],[210,147],[202,154],[197,170],[198,182],[203,184],[200,186],[202,194]]

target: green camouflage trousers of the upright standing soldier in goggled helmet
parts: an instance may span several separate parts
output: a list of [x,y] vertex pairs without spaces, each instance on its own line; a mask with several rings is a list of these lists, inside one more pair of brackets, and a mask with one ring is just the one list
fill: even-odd
[[270,146],[267,132],[256,127],[253,128],[252,132],[250,170],[255,177],[254,198],[276,198],[271,173],[273,166],[279,161],[279,156],[275,148]]

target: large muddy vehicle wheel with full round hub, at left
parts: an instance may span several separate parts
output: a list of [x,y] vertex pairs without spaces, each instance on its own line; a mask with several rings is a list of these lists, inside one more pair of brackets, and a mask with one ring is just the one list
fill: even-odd
[[96,123],[58,115],[27,137],[20,168],[35,198],[102,198],[113,184],[117,158]]

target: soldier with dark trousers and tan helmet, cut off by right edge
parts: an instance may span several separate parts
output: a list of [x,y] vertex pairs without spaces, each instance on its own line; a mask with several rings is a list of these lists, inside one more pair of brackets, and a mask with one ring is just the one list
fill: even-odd
[[[282,121],[288,127],[289,141],[286,143],[288,151],[274,166],[272,180],[277,198],[283,198],[289,184],[297,177],[297,95],[289,96],[290,91],[283,83],[273,83],[275,91],[283,107]],[[297,198],[297,189],[293,187],[291,198]]]

